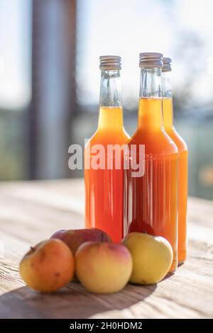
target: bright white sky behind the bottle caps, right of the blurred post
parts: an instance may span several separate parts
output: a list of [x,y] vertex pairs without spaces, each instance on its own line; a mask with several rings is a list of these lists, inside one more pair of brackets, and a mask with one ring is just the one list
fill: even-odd
[[[77,83],[81,103],[99,98],[99,55],[121,55],[124,103],[136,106],[139,52],[162,52],[173,58],[173,86],[192,82],[195,103],[212,99],[212,0],[80,0],[77,30]],[[192,48],[197,36],[204,47]],[[196,52],[195,52],[196,51]],[[185,57],[182,57],[182,54]],[[195,67],[195,68],[194,68]],[[211,66],[210,66],[211,67]],[[82,96],[84,96],[82,98]]]

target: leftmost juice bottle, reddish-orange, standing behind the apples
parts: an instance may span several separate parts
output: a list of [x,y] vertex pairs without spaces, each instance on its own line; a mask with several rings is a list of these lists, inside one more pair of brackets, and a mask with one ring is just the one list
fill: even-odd
[[[123,146],[129,139],[123,125],[121,57],[100,57],[100,69],[98,128],[84,149],[85,225],[104,230],[114,242],[120,242],[124,233]],[[115,149],[108,150],[111,145]],[[98,149],[105,159],[100,167],[93,165]]]

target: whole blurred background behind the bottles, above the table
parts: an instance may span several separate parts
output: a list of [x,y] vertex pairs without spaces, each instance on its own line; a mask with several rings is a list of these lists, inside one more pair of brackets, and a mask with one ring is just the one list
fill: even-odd
[[1,0],[0,180],[83,176],[68,146],[97,128],[99,55],[121,55],[124,125],[137,124],[139,52],[173,58],[189,194],[213,199],[211,0]]

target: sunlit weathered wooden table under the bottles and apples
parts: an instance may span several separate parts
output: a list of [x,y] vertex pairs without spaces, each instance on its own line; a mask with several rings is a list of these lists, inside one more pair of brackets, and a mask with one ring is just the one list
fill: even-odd
[[1,183],[0,318],[213,317],[213,203],[197,198],[188,204],[187,262],[158,285],[129,284],[114,295],[93,295],[80,283],[54,295],[26,287],[21,256],[55,230],[83,227],[83,205],[80,179]]

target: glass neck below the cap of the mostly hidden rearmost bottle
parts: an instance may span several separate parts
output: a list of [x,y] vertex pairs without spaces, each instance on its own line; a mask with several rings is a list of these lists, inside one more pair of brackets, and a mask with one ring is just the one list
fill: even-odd
[[171,72],[162,73],[163,125],[167,131],[173,128],[173,93],[170,73]]

